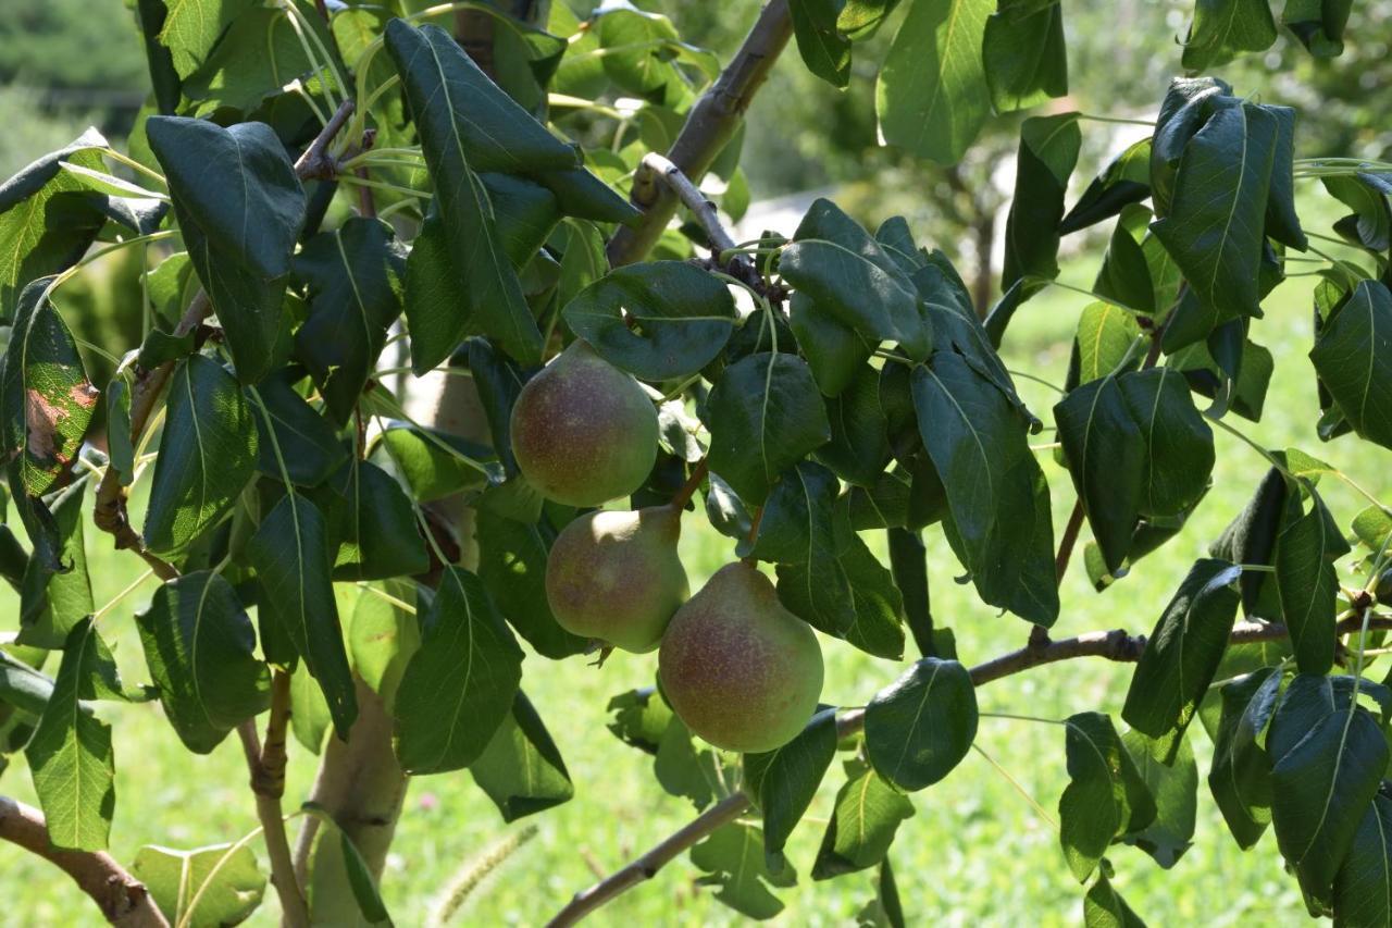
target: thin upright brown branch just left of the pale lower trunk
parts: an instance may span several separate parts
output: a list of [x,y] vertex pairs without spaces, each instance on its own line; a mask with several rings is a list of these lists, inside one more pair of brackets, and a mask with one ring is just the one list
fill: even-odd
[[252,793],[256,794],[256,817],[266,836],[266,856],[270,858],[270,881],[280,896],[285,924],[302,928],[309,924],[309,906],[295,878],[295,860],[285,836],[281,797],[285,794],[285,732],[290,727],[290,674],[276,670],[271,676],[270,718],[266,722],[266,744],[256,737],[256,723],[244,722],[237,727],[246,754]]

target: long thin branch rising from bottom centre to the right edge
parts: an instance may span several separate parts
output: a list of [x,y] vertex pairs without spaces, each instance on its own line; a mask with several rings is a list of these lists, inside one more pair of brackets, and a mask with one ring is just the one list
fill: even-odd
[[[1353,634],[1359,631],[1361,626],[1361,616],[1350,616],[1342,619],[1335,626],[1335,631],[1339,635]],[[1371,616],[1368,620],[1368,628],[1392,628],[1392,616]],[[1233,626],[1229,642],[1246,644],[1253,641],[1275,641],[1285,638],[1286,634],[1286,627],[1279,623],[1239,621]],[[979,663],[972,667],[969,673],[972,676],[973,686],[980,687],[991,683],[992,680],[1001,680],[1031,667],[1045,663],[1058,663],[1061,660],[1073,660],[1076,658],[1102,658],[1105,660],[1116,660],[1121,663],[1134,663],[1140,660],[1144,651],[1146,635],[1132,635],[1123,628],[1114,628],[1112,631],[1091,631],[1077,635],[1076,638],[1063,638],[1059,641],[1026,645],[1025,648],[1011,651],[999,658],[987,660],[986,663]],[[849,709],[837,718],[837,733],[841,737],[855,734],[863,727],[864,709]],[[614,871],[589,889],[576,893],[575,897],[571,899],[571,902],[567,903],[567,906],[557,913],[550,922],[547,922],[548,928],[574,925],[600,906],[612,900],[615,896],[619,896],[633,886],[651,879],[664,864],[674,860],[683,850],[695,846],[715,829],[734,822],[752,807],[753,798],[743,790],[727,796],[642,857]]]

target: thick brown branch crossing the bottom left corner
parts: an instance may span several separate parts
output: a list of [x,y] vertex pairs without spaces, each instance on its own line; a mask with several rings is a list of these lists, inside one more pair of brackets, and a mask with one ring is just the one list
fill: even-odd
[[[58,850],[49,840],[43,812],[0,796],[0,839],[38,854],[72,878],[113,925],[168,928],[145,883],[103,851]],[[24,890],[19,890],[24,895]],[[11,910],[13,911],[13,910]]]

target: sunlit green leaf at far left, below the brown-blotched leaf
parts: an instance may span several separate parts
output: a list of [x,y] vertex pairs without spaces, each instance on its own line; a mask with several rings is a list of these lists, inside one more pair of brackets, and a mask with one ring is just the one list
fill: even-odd
[[72,627],[96,608],[84,538],[86,485],[88,481],[77,481],[47,500],[52,529],[58,541],[56,564],[36,555],[25,566],[19,584],[18,644],[61,648]]

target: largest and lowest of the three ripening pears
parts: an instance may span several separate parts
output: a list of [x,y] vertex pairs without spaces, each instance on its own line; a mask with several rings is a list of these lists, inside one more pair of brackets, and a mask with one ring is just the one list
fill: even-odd
[[729,751],[791,741],[821,695],[821,647],[753,564],[721,567],[677,610],[657,676],[692,732]]

